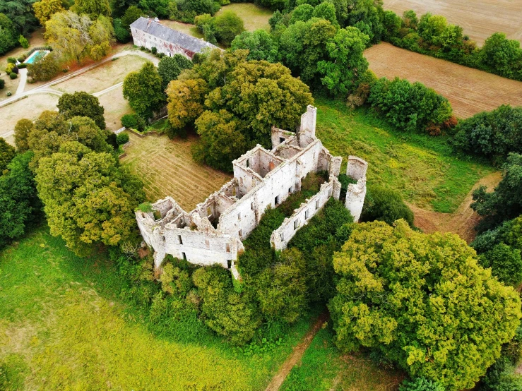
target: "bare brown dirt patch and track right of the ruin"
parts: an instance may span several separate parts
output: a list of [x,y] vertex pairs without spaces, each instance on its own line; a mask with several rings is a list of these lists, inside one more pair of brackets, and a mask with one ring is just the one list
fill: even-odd
[[470,208],[473,202],[473,190],[481,185],[485,185],[488,190],[492,190],[501,179],[502,175],[500,172],[494,172],[480,179],[468,195],[465,196],[461,206],[454,213],[433,212],[432,210],[424,210],[408,204],[415,215],[415,226],[427,234],[431,234],[434,231],[453,232],[470,243],[470,241],[475,239],[475,230],[473,228],[480,221],[480,216],[477,215],[477,212]]

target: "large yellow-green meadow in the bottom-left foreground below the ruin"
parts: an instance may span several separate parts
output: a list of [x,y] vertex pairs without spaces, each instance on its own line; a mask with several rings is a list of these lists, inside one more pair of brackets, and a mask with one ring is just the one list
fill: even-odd
[[7,390],[263,390],[311,319],[247,356],[204,329],[158,335],[119,297],[105,253],[78,258],[40,228],[0,253],[0,360]]

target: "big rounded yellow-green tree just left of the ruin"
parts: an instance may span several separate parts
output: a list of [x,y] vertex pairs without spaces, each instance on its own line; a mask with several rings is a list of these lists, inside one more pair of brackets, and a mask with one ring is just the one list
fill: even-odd
[[117,246],[131,236],[143,185],[112,155],[76,141],[64,143],[42,157],[35,181],[51,234],[61,236],[77,255],[93,253],[97,243]]

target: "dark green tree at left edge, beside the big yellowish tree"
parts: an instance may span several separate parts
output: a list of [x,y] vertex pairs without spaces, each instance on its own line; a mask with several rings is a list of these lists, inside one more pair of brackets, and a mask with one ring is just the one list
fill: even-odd
[[7,166],[8,172],[0,176],[0,247],[23,236],[27,224],[40,212],[40,198],[29,169],[31,160],[32,152],[16,155]]

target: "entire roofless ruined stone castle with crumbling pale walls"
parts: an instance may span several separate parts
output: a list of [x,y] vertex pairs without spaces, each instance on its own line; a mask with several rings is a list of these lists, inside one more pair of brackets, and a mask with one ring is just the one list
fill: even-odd
[[[242,240],[258,226],[268,207],[277,207],[300,190],[309,172],[326,171],[329,180],[273,231],[271,245],[275,250],[283,250],[328,198],[338,200],[342,158],[332,156],[316,138],[316,111],[316,107],[307,107],[297,134],[272,128],[272,150],[257,145],[234,160],[234,178],[191,212],[185,212],[170,197],[154,203],[153,212],[137,211],[143,239],[154,249],[155,268],[171,254],[198,265],[222,265],[238,278],[235,261],[244,251]],[[357,184],[348,185],[345,206],[355,221],[366,195],[367,165],[358,157],[348,158],[346,174]]]

